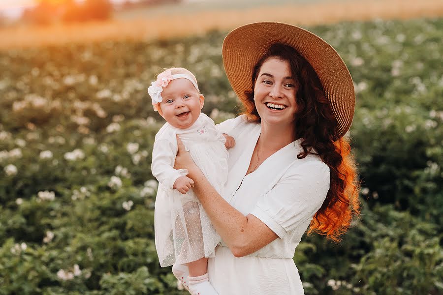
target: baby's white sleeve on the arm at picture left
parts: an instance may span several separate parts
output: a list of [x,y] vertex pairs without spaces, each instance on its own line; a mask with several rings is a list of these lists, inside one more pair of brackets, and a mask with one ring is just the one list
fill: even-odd
[[188,169],[174,169],[177,143],[166,140],[156,140],[152,151],[151,172],[163,188],[172,190],[175,180],[188,175]]

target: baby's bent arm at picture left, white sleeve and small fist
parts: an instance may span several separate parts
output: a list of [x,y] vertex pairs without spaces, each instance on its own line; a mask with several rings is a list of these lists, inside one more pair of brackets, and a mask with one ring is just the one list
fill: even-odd
[[175,155],[177,154],[177,143],[166,139],[156,140],[152,151],[151,172],[164,188],[177,189],[182,194],[193,186],[193,181],[188,175],[187,169],[174,169]]

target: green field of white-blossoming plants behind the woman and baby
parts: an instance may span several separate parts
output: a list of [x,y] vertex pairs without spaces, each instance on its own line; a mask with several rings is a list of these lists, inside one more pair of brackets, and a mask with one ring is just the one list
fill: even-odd
[[[443,294],[443,19],[308,29],[355,83],[363,208],[341,243],[302,239],[305,293]],[[0,295],[185,294],[154,246],[147,87],[184,66],[206,114],[236,116],[225,34],[0,53]]]

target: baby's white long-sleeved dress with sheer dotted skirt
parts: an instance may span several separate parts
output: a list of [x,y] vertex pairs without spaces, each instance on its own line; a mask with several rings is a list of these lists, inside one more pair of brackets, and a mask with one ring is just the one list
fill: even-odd
[[187,169],[173,168],[177,154],[176,134],[221,195],[227,177],[225,138],[211,118],[201,113],[188,129],[175,128],[168,123],[160,128],[152,152],[151,170],[158,180],[154,226],[162,267],[214,256],[214,249],[220,241],[192,189],[183,195],[172,188],[178,177],[188,174]]

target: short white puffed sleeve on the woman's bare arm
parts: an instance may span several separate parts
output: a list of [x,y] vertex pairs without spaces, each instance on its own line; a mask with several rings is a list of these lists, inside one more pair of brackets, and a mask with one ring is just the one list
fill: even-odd
[[280,238],[311,220],[329,190],[329,167],[321,161],[302,164],[260,196],[251,212]]

